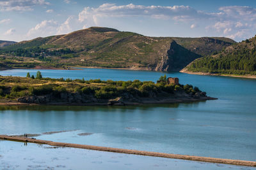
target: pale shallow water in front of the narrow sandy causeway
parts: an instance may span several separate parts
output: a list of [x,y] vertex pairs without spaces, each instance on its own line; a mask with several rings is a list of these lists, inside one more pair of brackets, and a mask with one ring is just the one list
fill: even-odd
[[[2,147],[4,146],[4,147]],[[40,157],[36,156],[40,155]],[[0,169],[255,169],[0,140]]]

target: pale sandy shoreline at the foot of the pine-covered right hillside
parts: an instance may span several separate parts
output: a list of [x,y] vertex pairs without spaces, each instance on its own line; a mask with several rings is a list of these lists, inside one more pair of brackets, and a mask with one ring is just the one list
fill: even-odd
[[256,76],[253,76],[253,75],[244,75],[244,76],[243,76],[243,75],[234,75],[234,74],[204,73],[204,72],[187,71],[186,69],[182,69],[182,70],[180,70],[179,72],[180,72],[180,73],[186,73],[186,74],[202,75],[202,76],[226,76],[226,77],[256,79]]

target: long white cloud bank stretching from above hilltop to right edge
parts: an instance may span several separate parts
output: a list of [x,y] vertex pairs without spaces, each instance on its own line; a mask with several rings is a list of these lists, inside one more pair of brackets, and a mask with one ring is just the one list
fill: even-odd
[[[85,7],[78,20],[86,25],[101,25],[111,18],[148,17],[152,20],[170,20],[175,24],[186,23],[190,29],[198,27],[214,36],[243,37],[256,32],[256,8],[248,6],[222,6],[215,13],[207,13],[190,6],[143,6],[127,4],[102,4],[97,8]],[[103,19],[102,19],[103,18]],[[140,19],[141,20],[141,19]],[[195,23],[200,22],[200,26]],[[118,24],[118,22],[115,22]],[[120,22],[122,23],[122,22]],[[184,25],[182,25],[184,26]],[[243,35],[242,35],[243,34]],[[209,35],[210,36],[210,35]],[[252,35],[251,35],[252,36]]]

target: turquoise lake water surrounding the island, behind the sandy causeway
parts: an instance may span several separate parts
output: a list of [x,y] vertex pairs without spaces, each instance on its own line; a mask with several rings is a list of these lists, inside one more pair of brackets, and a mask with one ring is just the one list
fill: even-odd
[[[26,76],[37,70],[0,71]],[[40,70],[45,77],[152,80],[164,73],[114,69]],[[256,80],[166,73],[207,92],[215,101],[152,106],[0,107],[0,134],[225,159],[256,160]],[[83,132],[92,133],[79,136]],[[1,143],[0,143],[1,145]]]

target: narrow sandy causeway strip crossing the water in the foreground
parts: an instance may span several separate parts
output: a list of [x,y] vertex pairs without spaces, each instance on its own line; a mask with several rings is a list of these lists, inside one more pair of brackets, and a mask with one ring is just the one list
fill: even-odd
[[211,158],[211,157],[198,157],[198,156],[179,155],[179,154],[172,154],[172,153],[127,150],[127,149],[121,149],[121,148],[109,148],[109,147],[104,147],[104,146],[80,145],[80,144],[74,144],[74,143],[61,143],[61,142],[45,141],[45,140],[39,140],[39,139],[23,138],[23,137],[17,137],[17,136],[6,136],[6,135],[0,135],[0,139],[10,140],[10,141],[19,141],[19,142],[24,142],[24,143],[26,143],[26,142],[38,143],[38,144],[42,144],[42,145],[61,146],[61,147],[70,147],[70,148],[82,148],[82,149],[87,149],[87,150],[99,150],[99,151],[104,151],[104,152],[127,153],[127,154],[145,155],[145,156],[151,156],[151,157],[165,157],[165,158],[170,158],[170,159],[185,159],[185,160],[195,160],[195,161],[202,161],[202,162],[212,162],[212,163],[218,163],[218,164],[232,164],[232,165],[236,165],[236,166],[256,167],[256,162],[247,161],[247,160],[218,159],[218,158]]

